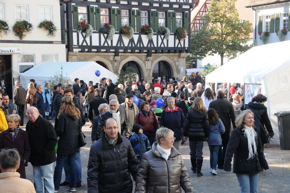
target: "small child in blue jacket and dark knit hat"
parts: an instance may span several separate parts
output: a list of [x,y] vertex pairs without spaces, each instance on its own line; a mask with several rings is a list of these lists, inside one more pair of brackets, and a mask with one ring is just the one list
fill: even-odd
[[134,124],[132,127],[132,133],[134,132],[134,135],[130,138],[130,142],[133,148],[133,151],[136,154],[137,159],[139,162],[141,161],[142,155],[151,150],[151,145],[146,137],[146,135],[143,134],[142,126],[139,124]]

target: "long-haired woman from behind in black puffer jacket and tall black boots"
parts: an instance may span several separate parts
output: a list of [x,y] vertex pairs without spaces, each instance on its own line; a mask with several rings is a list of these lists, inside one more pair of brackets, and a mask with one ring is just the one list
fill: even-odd
[[202,149],[203,142],[209,137],[209,117],[202,98],[194,99],[185,118],[183,131],[184,141],[189,137],[191,170],[197,176],[202,176]]

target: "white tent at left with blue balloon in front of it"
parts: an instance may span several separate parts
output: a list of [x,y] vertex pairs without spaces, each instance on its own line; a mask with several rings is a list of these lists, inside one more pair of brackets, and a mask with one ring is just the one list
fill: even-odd
[[[30,79],[34,79],[37,84],[44,84],[44,82],[48,82],[50,77],[60,72],[61,67],[63,67],[64,76],[68,76],[72,81],[79,78],[87,84],[89,81],[93,81],[95,84],[99,83],[102,77],[111,78],[113,83],[117,81],[117,75],[96,62],[41,62],[22,73],[22,76],[26,85],[28,85]],[[99,77],[95,75],[96,70],[101,72]]]

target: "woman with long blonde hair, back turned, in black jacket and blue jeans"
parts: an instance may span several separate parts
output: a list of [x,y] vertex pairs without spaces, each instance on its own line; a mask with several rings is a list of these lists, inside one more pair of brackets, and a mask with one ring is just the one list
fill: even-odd
[[57,146],[57,158],[55,172],[53,176],[55,192],[59,190],[61,182],[62,168],[68,158],[70,167],[69,191],[75,192],[77,183],[76,154],[79,153],[79,129],[81,128],[81,113],[75,107],[73,100],[69,96],[61,99],[61,107],[57,115],[59,119],[56,132],[59,136]]

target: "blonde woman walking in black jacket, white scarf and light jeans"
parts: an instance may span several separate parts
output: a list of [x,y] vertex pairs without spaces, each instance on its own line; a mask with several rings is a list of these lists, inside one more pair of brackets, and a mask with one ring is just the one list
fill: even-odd
[[269,169],[262,149],[260,136],[254,125],[254,114],[244,110],[235,119],[237,126],[231,133],[224,158],[224,170],[231,171],[234,154],[233,173],[236,174],[241,192],[258,192],[259,172]]

